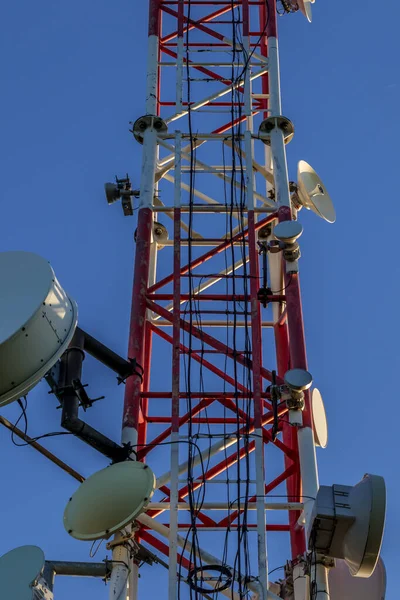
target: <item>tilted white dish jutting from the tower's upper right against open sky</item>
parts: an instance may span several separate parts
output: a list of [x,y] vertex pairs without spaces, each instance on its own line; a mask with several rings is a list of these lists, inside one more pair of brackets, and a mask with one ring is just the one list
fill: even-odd
[[311,165],[305,160],[300,160],[297,166],[297,183],[299,198],[308,210],[312,210],[328,223],[336,221],[336,212],[333,202]]

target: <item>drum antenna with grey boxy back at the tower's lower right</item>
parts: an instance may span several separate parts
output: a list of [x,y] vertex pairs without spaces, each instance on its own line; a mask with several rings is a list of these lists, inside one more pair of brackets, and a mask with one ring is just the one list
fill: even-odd
[[383,477],[365,475],[351,487],[320,486],[309,531],[310,549],[342,558],[353,577],[370,577],[378,562],[386,514]]

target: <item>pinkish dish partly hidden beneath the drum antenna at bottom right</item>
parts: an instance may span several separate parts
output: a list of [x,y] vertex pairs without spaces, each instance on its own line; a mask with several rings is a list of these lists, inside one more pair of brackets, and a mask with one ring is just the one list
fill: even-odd
[[380,558],[375,571],[367,579],[352,577],[344,560],[336,560],[329,570],[329,591],[332,600],[385,600],[386,569]]

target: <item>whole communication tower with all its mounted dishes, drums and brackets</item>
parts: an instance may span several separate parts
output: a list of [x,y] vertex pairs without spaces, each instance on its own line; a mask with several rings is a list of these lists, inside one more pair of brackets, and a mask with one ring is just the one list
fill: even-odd
[[[105,187],[109,204],[137,215],[127,359],[77,327],[45,261],[0,255],[0,302],[14,316],[0,340],[0,404],[21,402],[45,376],[62,426],[112,461],[83,481],[47,452],[81,483],[66,499],[67,532],[107,539],[112,559],[44,567],[35,547],[5,555],[0,571],[24,553],[33,565],[21,600],[50,598],[54,574],[89,572],[109,579],[113,600],[147,598],[143,562],[168,569],[168,600],[384,594],[383,479],[318,482],[315,447],[328,432],[307,364],[298,217],[336,216],[307,162],[288,178],[294,125],[282,112],[277,28],[279,12],[311,21],[312,4],[149,0],[145,106],[131,127],[140,186],[127,175]],[[120,442],[79,416],[93,404],[85,352],[125,385]],[[272,545],[286,567],[269,580]]]

